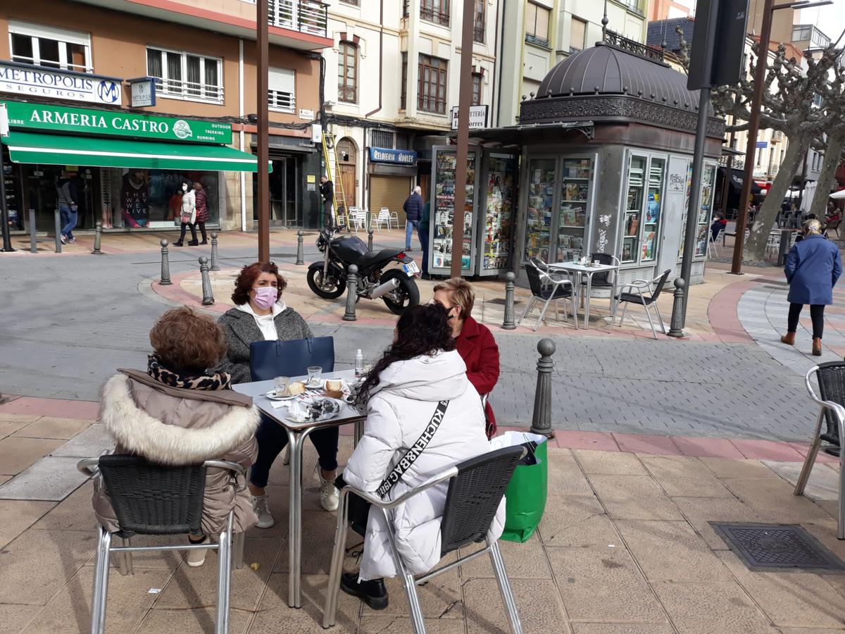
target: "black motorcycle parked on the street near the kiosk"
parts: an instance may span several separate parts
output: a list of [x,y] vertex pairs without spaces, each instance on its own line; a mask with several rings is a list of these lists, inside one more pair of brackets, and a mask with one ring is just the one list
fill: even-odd
[[[401,249],[370,253],[357,236],[335,238],[333,232],[325,229],[317,238],[317,249],[323,254],[323,260],[308,266],[308,287],[319,297],[341,297],[346,290],[349,267],[356,265],[358,299],[381,298],[395,314],[419,303],[420,292],[414,279],[419,274],[419,267]],[[391,262],[399,262],[401,266],[385,270]]]

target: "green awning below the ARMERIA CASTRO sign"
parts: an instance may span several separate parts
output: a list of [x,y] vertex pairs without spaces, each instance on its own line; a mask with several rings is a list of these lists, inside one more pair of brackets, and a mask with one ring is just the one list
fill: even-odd
[[[225,145],[157,143],[93,136],[12,132],[3,138],[16,163],[256,172],[258,159]],[[271,167],[268,167],[271,169]]]

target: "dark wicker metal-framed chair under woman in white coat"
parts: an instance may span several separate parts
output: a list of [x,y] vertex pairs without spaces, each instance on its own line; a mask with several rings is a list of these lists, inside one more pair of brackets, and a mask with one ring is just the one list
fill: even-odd
[[[337,597],[341,589],[341,572],[343,571],[344,546],[346,544],[346,528],[349,526],[347,513],[349,511],[349,495],[354,494],[368,501],[379,511],[384,513],[384,519],[388,527],[390,538],[390,551],[395,561],[396,571],[402,580],[405,588],[408,607],[411,610],[411,621],[415,634],[425,634],[423,625],[423,609],[417,597],[417,586],[429,579],[436,577],[441,572],[450,571],[455,566],[461,566],[469,560],[488,553],[493,563],[493,574],[499,583],[499,592],[504,601],[504,609],[510,621],[510,631],[513,634],[522,634],[522,625],[519,612],[516,609],[514,595],[510,589],[507,571],[504,569],[504,561],[499,552],[499,545],[487,538],[490,523],[499,508],[499,502],[504,496],[504,489],[510,483],[510,477],[514,473],[516,463],[526,450],[521,446],[505,447],[496,451],[470,458],[465,462],[446,469],[423,484],[407,491],[404,495],[395,500],[382,500],[371,493],[353,489],[346,486],[341,489],[341,506],[337,514],[337,532],[335,533],[335,548],[331,555],[331,571],[329,575],[329,588],[326,592],[325,611],[323,615],[323,627],[335,625],[335,612],[337,610]],[[446,494],[446,504],[443,511],[443,520],[440,523],[440,555],[445,556],[463,548],[469,544],[485,542],[487,545],[460,559],[438,568],[435,571],[415,577],[406,570],[401,560],[398,549],[396,549],[396,536],[393,522],[390,522],[391,509],[404,504],[414,495],[422,493],[426,489],[449,481],[449,490]]]

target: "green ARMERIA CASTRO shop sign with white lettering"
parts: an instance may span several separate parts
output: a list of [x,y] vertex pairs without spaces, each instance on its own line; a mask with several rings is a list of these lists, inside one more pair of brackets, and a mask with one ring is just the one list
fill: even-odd
[[22,101],[7,101],[6,105],[10,128],[194,143],[232,143],[231,123],[154,117],[125,110],[49,106]]

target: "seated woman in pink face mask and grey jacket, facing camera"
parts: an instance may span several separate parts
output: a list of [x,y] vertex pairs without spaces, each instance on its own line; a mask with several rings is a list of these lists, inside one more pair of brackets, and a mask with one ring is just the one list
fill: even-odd
[[[311,329],[296,310],[288,308],[281,298],[287,286],[275,264],[244,266],[235,281],[232,303],[235,308],[220,318],[226,332],[226,358],[221,370],[232,376],[232,383],[247,383],[249,373],[249,344],[264,340],[290,341],[312,337]],[[337,468],[337,428],[319,429],[309,436],[317,449],[320,466],[320,504],[326,511],[335,511],[338,504],[335,489]],[[287,444],[287,434],[280,424],[262,417],[255,432],[259,455],[249,474],[249,489],[253,506],[259,516],[259,528],[273,526],[273,516],[267,503],[264,487],[270,466]]]

